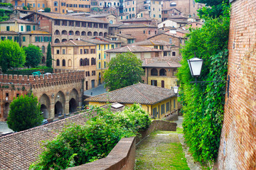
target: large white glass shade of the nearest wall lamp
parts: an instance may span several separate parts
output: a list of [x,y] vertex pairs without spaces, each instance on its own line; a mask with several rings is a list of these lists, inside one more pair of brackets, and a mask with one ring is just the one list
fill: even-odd
[[193,57],[191,60],[188,60],[188,66],[192,77],[199,77],[203,66],[203,60],[197,57]]

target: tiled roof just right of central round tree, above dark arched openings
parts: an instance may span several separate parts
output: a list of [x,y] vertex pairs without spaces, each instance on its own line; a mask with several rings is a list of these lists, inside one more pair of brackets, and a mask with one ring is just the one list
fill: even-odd
[[155,57],[142,60],[142,67],[178,68],[181,57]]

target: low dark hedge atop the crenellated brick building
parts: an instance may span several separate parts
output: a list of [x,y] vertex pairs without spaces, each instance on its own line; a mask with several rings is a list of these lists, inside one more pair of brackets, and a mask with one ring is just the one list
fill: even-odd
[[6,72],[6,74],[18,74],[18,75],[32,75],[33,72],[36,72],[38,70],[43,70],[43,72],[53,72],[53,68],[50,67],[37,67],[32,69],[20,69],[20,70],[9,70]]

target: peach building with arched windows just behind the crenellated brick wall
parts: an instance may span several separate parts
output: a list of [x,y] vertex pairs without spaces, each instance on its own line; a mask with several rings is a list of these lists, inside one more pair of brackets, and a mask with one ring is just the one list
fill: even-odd
[[85,71],[85,90],[97,86],[96,45],[82,40],[69,40],[52,45],[53,67]]

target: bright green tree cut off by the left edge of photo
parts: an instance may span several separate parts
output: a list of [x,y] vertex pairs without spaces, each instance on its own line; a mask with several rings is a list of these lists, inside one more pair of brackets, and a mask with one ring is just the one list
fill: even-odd
[[2,72],[11,67],[22,67],[26,62],[26,54],[17,42],[4,40],[0,42],[0,65]]

